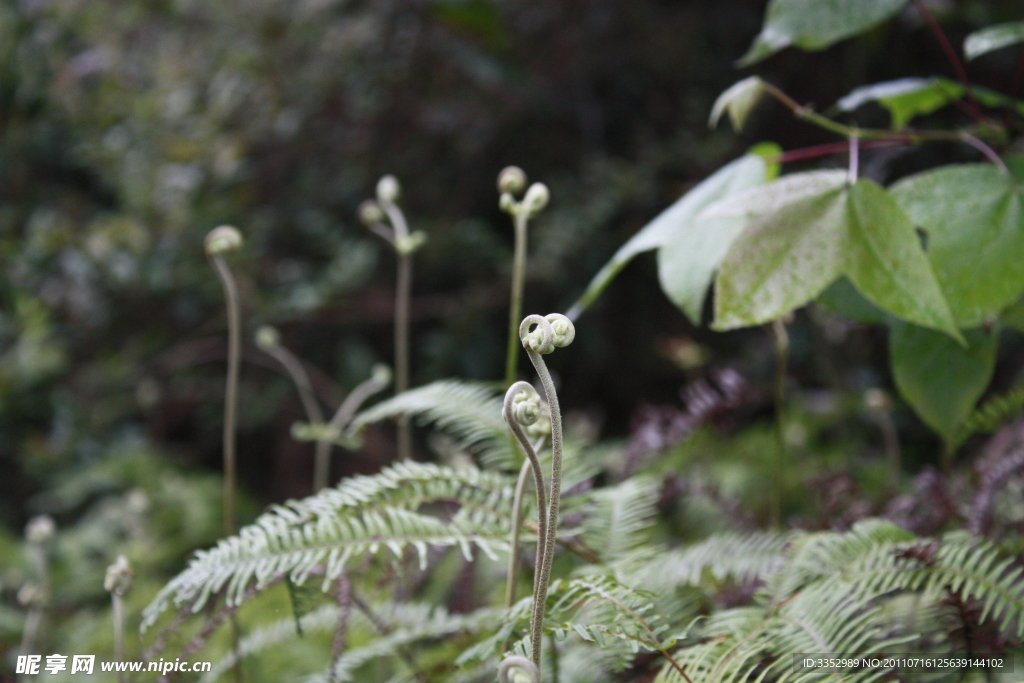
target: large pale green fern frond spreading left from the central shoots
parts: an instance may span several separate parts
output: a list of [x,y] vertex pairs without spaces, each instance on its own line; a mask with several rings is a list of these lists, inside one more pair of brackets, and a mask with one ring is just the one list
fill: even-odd
[[[508,549],[512,486],[500,475],[403,463],[373,476],[347,479],[303,501],[274,506],[238,536],[200,551],[143,611],[142,630],[172,603],[199,610],[225,591],[238,604],[248,586],[281,577],[302,584],[317,570],[324,586],[353,558],[384,550],[401,557],[412,547],[421,565],[427,547],[458,546],[467,558],[475,546],[490,556]],[[462,509],[442,520],[415,510],[435,501]]]

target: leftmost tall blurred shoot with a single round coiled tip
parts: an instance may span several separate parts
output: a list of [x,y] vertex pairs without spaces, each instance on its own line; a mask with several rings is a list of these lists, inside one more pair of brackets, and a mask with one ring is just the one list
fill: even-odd
[[227,303],[227,386],[224,391],[224,533],[234,533],[234,424],[238,419],[239,368],[242,361],[242,311],[239,288],[224,254],[242,248],[242,233],[230,225],[215,227],[206,236],[206,255],[217,271]]

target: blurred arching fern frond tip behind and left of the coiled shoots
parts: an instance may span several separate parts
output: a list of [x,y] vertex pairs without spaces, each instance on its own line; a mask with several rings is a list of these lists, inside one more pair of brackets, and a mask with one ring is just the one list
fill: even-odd
[[416,417],[420,424],[434,424],[487,466],[516,467],[508,427],[502,419],[502,399],[485,385],[440,380],[411,389],[359,413],[349,429],[358,431],[401,415]]

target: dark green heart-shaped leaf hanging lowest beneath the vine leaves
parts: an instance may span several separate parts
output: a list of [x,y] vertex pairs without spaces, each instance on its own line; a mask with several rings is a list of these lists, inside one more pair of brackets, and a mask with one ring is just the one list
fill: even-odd
[[900,394],[947,442],[992,379],[998,335],[964,333],[967,348],[933,330],[905,323],[890,328],[893,378]]

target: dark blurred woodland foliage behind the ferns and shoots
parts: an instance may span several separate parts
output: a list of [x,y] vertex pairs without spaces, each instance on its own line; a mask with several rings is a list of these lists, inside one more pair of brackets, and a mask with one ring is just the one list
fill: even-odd
[[[301,404],[252,343],[256,327],[282,330],[331,404],[390,359],[393,256],[355,218],[382,174],[401,180],[413,227],[429,236],[416,261],[414,385],[497,380],[512,248],[495,189],[502,167],[518,164],[552,190],[531,227],[526,287],[525,310],[543,312],[565,309],[621,244],[751,144],[834,141],[775,104],[741,135],[708,130],[716,96],[748,73],[734,60],[764,4],[0,2],[0,556],[18,555],[30,515],[52,514],[74,529],[61,537],[67,575],[54,579],[54,600],[63,592],[69,605],[71,596],[101,605],[102,570],[125,548],[144,558],[136,573],[156,587],[217,538],[225,319],[203,252],[217,224],[238,225],[247,241],[233,264],[247,331],[240,474],[251,518],[309,493],[312,456],[289,436]],[[953,44],[1019,18],[1009,0],[929,5]],[[1011,92],[1016,70],[1017,53],[1005,50],[972,62],[971,77]],[[820,108],[865,82],[952,76],[910,7],[757,72]],[[862,166],[905,173],[964,154],[865,151]],[[644,257],[578,331],[554,366],[572,419],[601,437],[660,438],[657,425],[675,415],[664,411],[678,411],[665,405],[680,404],[683,385],[735,369],[748,387],[741,409],[669,462],[721,455],[709,477],[727,492],[757,489],[730,463],[770,449],[773,353],[763,330],[693,328]],[[864,484],[842,479],[844,468],[880,461],[884,449],[861,400],[866,389],[891,390],[884,333],[815,308],[791,336],[792,445],[830,468],[821,496],[852,500]],[[997,388],[1013,383],[1022,350],[1014,339],[1001,346]],[[938,462],[936,437],[907,409],[896,404],[892,419],[908,472]],[[334,478],[376,471],[392,439],[386,427],[371,432],[360,453],[336,459]],[[884,508],[881,499],[858,512],[812,498],[793,523]],[[681,528],[731,524],[693,500]],[[133,526],[140,520],[148,526]],[[24,581],[16,565],[0,574],[5,597]],[[16,643],[15,611],[0,608],[0,651]]]

